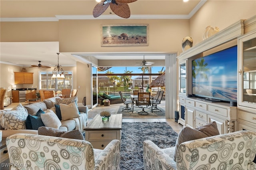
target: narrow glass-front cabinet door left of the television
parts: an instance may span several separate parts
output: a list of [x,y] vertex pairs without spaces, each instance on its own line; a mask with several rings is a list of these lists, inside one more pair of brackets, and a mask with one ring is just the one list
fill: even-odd
[[179,94],[187,95],[187,77],[186,77],[187,61],[179,63]]

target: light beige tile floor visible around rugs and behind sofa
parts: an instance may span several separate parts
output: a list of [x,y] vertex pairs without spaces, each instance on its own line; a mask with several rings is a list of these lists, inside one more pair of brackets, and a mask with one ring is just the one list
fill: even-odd
[[[18,104],[19,103],[12,103],[11,105],[4,107],[4,109],[15,108]],[[22,105],[27,105],[27,103],[22,103]],[[98,107],[89,110],[88,119],[90,121],[95,117],[95,115],[106,110],[110,111],[111,114],[116,114],[120,105],[123,105],[123,103],[114,104],[110,106],[98,105]],[[165,101],[161,101],[161,105],[159,105],[159,107],[164,109]],[[179,133],[180,130],[183,128],[183,126],[176,123],[174,119],[166,119],[165,117],[150,117],[150,114],[141,117],[123,117],[122,122],[167,122],[170,125],[170,127],[172,127],[172,129],[175,130],[177,133]]]

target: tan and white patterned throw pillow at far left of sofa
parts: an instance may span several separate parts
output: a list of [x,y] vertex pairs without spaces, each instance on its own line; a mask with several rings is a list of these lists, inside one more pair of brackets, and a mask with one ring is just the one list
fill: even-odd
[[28,113],[25,108],[19,104],[16,108],[11,111],[2,112],[1,126],[5,130],[20,130],[26,129],[26,119]]

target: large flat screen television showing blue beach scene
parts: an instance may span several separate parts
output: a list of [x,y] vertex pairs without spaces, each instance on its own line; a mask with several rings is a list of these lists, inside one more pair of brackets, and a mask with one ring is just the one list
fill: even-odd
[[237,45],[192,61],[192,95],[237,102]]

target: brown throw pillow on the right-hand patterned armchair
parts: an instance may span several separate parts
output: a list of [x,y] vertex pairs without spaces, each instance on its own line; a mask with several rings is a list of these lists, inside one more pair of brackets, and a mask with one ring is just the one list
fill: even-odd
[[178,138],[176,140],[175,150],[173,154],[173,160],[176,162],[176,155],[178,152],[178,148],[180,144],[182,144],[183,142],[215,136],[218,134],[220,134],[220,132],[217,128],[216,122],[211,122],[207,125],[204,125],[202,127],[198,127],[195,129],[192,129],[190,127],[184,127],[182,130],[180,130],[178,134]]

